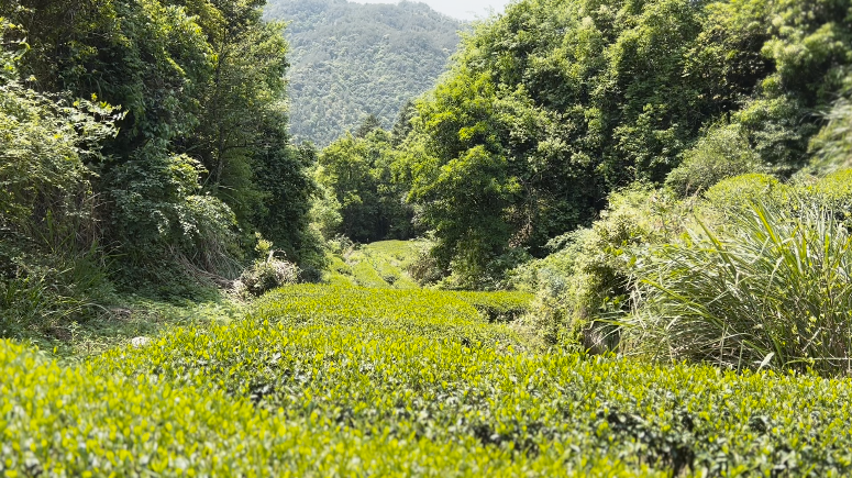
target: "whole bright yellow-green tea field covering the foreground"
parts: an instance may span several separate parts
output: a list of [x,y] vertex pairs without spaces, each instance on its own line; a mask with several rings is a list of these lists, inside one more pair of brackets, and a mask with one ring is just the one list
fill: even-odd
[[0,342],[0,476],[848,476],[852,381],[529,347],[530,298],[290,286],[63,367]]

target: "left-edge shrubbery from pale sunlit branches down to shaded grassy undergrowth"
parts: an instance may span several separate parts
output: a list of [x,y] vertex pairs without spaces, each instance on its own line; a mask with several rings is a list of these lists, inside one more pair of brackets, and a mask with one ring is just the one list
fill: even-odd
[[111,292],[86,162],[102,158],[122,114],[21,84],[10,29],[0,18],[0,337],[26,337],[87,319]]

